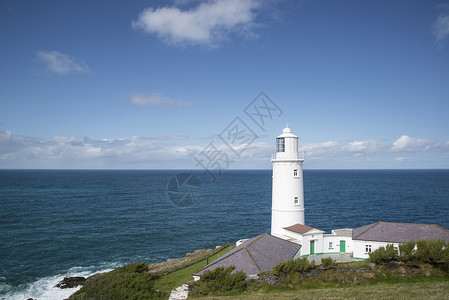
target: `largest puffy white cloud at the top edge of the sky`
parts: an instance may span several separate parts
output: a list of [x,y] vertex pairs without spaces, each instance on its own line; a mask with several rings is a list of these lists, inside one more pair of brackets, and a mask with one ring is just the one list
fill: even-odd
[[156,34],[168,44],[217,46],[231,33],[254,35],[257,0],[210,0],[190,10],[147,8],[132,27]]

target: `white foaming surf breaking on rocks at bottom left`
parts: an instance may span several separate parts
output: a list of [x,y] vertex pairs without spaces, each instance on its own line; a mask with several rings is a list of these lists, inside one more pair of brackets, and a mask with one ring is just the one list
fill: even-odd
[[[29,298],[39,300],[67,299],[78,291],[81,286],[71,289],[60,289],[55,287],[64,277],[83,276],[89,277],[100,272],[109,272],[122,266],[120,263],[105,263],[100,266],[73,267],[67,272],[40,278],[33,283],[20,286],[11,286],[5,282],[0,282],[0,299],[4,300],[26,300]],[[1,278],[4,280],[4,278]]]

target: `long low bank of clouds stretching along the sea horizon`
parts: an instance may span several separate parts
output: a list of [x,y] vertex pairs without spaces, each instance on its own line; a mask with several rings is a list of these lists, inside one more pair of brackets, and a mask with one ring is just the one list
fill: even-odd
[[[213,141],[232,161],[230,169],[271,168],[272,142],[256,140],[237,157],[219,139]],[[0,168],[195,169],[194,156],[209,143],[186,136],[39,139],[0,129]],[[324,141],[301,143],[300,151],[305,168],[449,168],[447,139],[402,135],[394,141]]]

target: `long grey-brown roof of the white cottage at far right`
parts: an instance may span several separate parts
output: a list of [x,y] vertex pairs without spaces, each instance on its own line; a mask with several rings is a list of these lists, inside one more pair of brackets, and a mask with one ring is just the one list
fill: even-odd
[[437,224],[414,224],[376,222],[355,228],[353,240],[406,243],[418,240],[438,240],[449,242],[449,230]]

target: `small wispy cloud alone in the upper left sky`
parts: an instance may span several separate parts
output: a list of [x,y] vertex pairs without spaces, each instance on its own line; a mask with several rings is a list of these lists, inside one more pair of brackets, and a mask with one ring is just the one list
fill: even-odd
[[72,72],[90,72],[89,67],[84,62],[58,51],[39,51],[37,57],[46,64],[48,70],[58,75],[67,75]]

